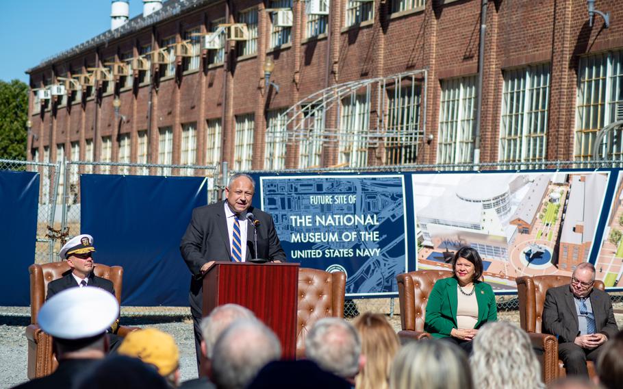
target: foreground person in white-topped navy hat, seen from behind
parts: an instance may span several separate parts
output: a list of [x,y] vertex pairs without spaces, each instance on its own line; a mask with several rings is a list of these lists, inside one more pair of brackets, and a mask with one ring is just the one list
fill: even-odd
[[58,368],[16,388],[71,388],[80,375],[105,357],[106,329],[119,316],[112,294],[100,288],[70,288],[51,297],[39,311],[38,323],[52,336]]

